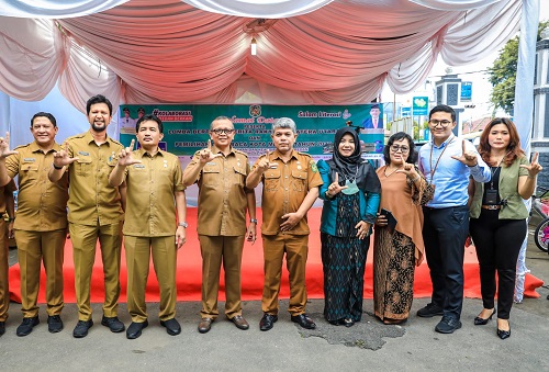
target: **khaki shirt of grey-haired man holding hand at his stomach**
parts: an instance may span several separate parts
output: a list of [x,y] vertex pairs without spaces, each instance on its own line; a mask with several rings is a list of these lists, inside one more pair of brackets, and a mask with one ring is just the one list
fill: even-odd
[[[257,162],[265,158],[259,157]],[[261,207],[264,223],[261,234],[277,235],[282,224],[282,216],[299,210],[309,190],[317,188],[322,182],[321,174],[313,158],[304,153],[292,150],[292,157],[288,162],[282,161],[278,150],[269,155],[271,168],[261,177],[264,182],[264,196]],[[295,227],[285,234],[309,235],[310,229],[306,215]]]

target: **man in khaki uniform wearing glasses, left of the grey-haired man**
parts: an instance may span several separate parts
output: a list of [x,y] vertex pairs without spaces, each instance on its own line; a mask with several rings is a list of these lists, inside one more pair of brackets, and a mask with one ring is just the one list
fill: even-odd
[[[202,311],[199,331],[210,330],[220,312],[220,270],[225,271],[225,315],[239,329],[249,325],[242,316],[240,267],[244,239],[256,240],[256,195],[246,189],[248,156],[231,146],[235,128],[226,116],[210,125],[208,148],[194,154],[183,183],[199,185],[198,233],[202,252]],[[246,228],[246,210],[250,224]]]

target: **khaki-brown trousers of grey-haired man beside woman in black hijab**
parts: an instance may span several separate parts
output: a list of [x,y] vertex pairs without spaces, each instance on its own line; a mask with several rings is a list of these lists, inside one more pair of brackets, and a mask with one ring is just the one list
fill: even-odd
[[261,309],[270,315],[278,315],[278,295],[282,275],[282,259],[285,253],[290,274],[291,315],[305,313],[307,292],[305,288],[305,266],[309,252],[309,235],[262,235],[265,259],[265,283]]

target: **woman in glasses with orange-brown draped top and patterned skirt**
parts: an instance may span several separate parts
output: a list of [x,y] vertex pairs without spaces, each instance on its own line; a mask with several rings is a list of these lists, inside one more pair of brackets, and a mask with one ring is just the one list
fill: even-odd
[[426,181],[414,166],[417,153],[406,133],[389,138],[383,157],[385,166],[378,169],[381,212],[373,239],[373,309],[384,324],[402,324],[408,318],[415,267],[422,263],[425,250],[419,204]]

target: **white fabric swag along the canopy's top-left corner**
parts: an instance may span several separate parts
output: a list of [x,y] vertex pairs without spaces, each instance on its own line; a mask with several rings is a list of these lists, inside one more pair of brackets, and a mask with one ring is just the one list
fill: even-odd
[[82,16],[117,7],[128,0],[0,0],[0,15],[60,19]]

